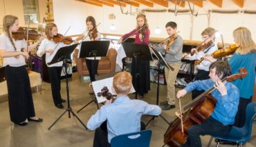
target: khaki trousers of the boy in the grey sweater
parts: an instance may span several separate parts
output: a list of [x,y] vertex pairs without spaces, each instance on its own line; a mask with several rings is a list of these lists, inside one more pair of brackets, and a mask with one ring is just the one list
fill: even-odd
[[167,83],[167,101],[170,105],[175,105],[175,80],[178,75],[181,63],[170,63],[170,66],[174,68],[174,71],[165,68],[165,79]]

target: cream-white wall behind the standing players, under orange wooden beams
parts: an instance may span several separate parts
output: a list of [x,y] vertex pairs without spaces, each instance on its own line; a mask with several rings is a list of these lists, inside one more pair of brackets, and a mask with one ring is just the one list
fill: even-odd
[[[188,4],[186,4],[188,8]],[[194,7],[199,14],[205,14],[209,9],[220,9],[214,6],[210,1],[203,1],[203,8]],[[147,8],[140,5],[140,9]],[[154,9],[167,9],[162,6],[154,6]],[[169,8],[174,9],[174,4],[170,3]],[[244,8],[239,8],[231,0],[223,1],[223,10],[256,10],[255,0],[245,1]],[[130,10],[130,6],[127,5],[124,11]],[[136,12],[132,7],[132,12]],[[110,20],[109,14],[115,14],[116,19]],[[66,32],[68,26],[71,29],[67,35],[81,34],[85,30],[85,19],[89,15],[96,19],[97,23],[101,23],[98,27],[100,32],[112,33],[112,34],[124,34],[133,30],[136,27],[136,15],[122,14],[119,6],[113,8],[109,6],[93,6],[88,3],[83,3],[75,0],[53,0],[53,14],[55,23],[59,28],[60,33]],[[180,14],[175,16],[170,12],[146,12],[147,20],[149,23],[149,29],[151,30],[151,37],[167,37],[165,32],[165,23],[168,21],[175,21],[178,24],[178,30],[183,39],[190,39],[192,33],[192,40],[201,40],[201,31],[208,27],[208,17],[206,15],[198,15],[194,18],[194,22],[191,23],[191,17],[189,14]],[[116,25],[116,32],[111,32],[111,23]],[[156,35],[154,30],[156,27],[161,28],[161,34]],[[192,28],[193,26],[193,28]],[[216,30],[220,30],[223,34],[224,41],[232,43],[232,31],[239,26],[246,26],[252,32],[253,38],[256,41],[256,14],[210,14],[210,26]]]

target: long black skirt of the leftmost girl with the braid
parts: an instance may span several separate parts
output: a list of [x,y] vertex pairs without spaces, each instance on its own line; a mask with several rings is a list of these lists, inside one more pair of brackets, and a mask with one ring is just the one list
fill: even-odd
[[35,117],[35,110],[26,66],[6,66],[10,121],[15,124]]

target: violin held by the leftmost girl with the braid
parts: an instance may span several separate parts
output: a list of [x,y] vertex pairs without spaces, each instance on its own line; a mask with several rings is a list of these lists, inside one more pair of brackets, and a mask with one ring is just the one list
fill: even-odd
[[41,37],[41,34],[37,33],[36,30],[25,30],[24,28],[19,28],[17,32],[12,32],[12,38],[15,40],[26,39],[28,35],[28,40],[36,41]]

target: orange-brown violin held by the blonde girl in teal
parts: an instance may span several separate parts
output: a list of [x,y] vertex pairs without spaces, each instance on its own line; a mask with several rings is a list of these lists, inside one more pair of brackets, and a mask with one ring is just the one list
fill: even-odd
[[[215,59],[220,59],[222,57],[234,54],[239,47],[240,46],[237,46],[237,44],[232,44],[231,46],[228,46],[228,48],[222,48],[220,50],[214,51],[212,54],[210,54],[210,56],[214,57]],[[203,58],[194,61],[194,64],[198,65],[201,63],[201,61],[203,61]]]

